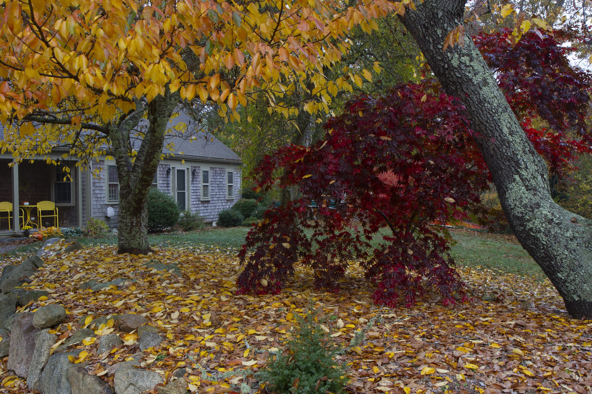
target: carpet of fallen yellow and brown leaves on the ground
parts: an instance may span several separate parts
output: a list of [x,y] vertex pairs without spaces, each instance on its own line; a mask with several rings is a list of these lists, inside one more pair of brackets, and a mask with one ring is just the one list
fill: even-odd
[[[56,255],[46,259],[26,286],[44,289],[49,297],[19,311],[54,302],[65,305],[69,321],[55,330],[60,340],[79,330],[78,319],[88,314],[141,314],[165,337],[160,350],[142,352],[141,366],[165,380],[187,368],[186,380],[195,393],[240,392],[243,382],[259,389],[253,375],[239,372],[257,371],[265,366],[269,351],[282,349],[295,315],[304,313],[310,299],[328,318],[321,328],[335,341],[349,344],[356,331],[365,330],[359,346],[338,356],[350,377],[349,392],[592,390],[592,321],[568,318],[547,280],[461,267],[473,297],[470,304],[443,307],[437,295],[426,295],[413,308],[379,308],[371,301],[374,289],[355,266],[338,294],[314,291],[310,272],[301,268],[279,295],[237,296],[240,266],[235,254],[231,249],[188,246],[130,256],[101,246]],[[146,268],[149,259],[178,265],[182,276]],[[124,279],[119,288],[78,290],[92,279],[117,278]],[[94,329],[99,336],[118,334],[124,344],[101,357],[96,354],[98,341],[87,338],[76,346],[85,353],[73,362],[90,362],[89,372],[112,384],[110,366],[140,352],[137,335],[121,333],[112,323]],[[4,390],[28,392],[25,381],[11,376],[6,363],[7,358],[0,364]]]

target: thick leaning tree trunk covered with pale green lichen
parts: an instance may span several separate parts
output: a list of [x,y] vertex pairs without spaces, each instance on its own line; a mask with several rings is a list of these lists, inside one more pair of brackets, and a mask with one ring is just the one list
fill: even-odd
[[442,51],[462,23],[462,0],[417,2],[401,18],[446,93],[466,106],[501,206],[523,248],[555,285],[572,317],[592,318],[592,222],[554,203],[537,154],[470,37]]

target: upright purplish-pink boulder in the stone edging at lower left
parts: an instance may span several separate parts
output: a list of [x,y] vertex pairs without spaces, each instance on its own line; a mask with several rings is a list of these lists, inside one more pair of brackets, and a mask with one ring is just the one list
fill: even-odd
[[35,334],[39,329],[33,325],[34,314],[17,315],[12,321],[7,369],[14,371],[17,376],[27,377],[35,351]]

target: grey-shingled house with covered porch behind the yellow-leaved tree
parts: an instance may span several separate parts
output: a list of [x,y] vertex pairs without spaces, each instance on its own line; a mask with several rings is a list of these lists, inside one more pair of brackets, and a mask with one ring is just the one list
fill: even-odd
[[[153,187],[173,196],[181,210],[191,209],[209,222],[217,220],[221,210],[241,197],[240,157],[213,135],[200,131],[186,113],[179,112],[168,128]],[[0,138],[3,136],[0,127]],[[76,159],[64,161],[65,152],[54,149],[49,155],[61,160],[57,166],[38,157],[9,167],[12,155],[0,154],[0,204],[13,203],[13,212],[20,212],[20,216],[24,213],[21,218],[11,213],[12,230],[8,230],[8,212],[2,212],[0,206],[0,234],[22,228],[22,222],[36,228],[40,222],[36,207],[39,201],[55,204],[60,227],[85,227],[90,217],[117,227],[119,184],[114,160],[102,155],[91,162],[90,168],[81,170],[75,167]],[[71,180],[64,180],[64,163],[72,170]],[[28,206],[23,206],[25,201]],[[54,225],[54,217],[41,220],[41,225]]]

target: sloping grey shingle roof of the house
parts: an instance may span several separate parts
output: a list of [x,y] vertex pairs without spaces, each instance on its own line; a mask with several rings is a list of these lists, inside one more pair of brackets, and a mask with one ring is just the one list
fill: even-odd
[[[144,125],[147,125],[146,120],[141,121],[138,127],[141,128]],[[177,116],[170,119],[167,129],[170,132],[165,136],[162,152],[169,157],[174,155],[184,159],[241,162],[239,155],[215,136],[202,131],[197,122],[185,112],[179,111]],[[0,123],[0,139],[2,138],[4,138],[4,125]],[[139,142],[136,140],[138,147]]]

